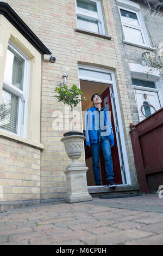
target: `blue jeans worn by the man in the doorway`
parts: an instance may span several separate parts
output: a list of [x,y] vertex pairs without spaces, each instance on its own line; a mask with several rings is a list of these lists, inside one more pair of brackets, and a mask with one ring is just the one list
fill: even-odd
[[103,150],[103,155],[105,159],[105,170],[106,170],[106,180],[108,181],[110,178],[114,178],[113,165],[112,165],[112,157],[111,157],[111,147],[109,140],[104,140],[97,143],[91,144],[91,153],[92,153],[92,167],[93,174],[95,178],[95,182],[101,183],[101,175],[99,169],[99,152],[100,147]]

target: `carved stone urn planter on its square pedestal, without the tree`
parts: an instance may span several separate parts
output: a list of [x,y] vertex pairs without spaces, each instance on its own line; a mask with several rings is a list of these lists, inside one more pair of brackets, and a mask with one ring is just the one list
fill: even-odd
[[[74,133],[76,135],[73,135]],[[67,156],[72,160],[64,171],[67,183],[66,203],[92,200],[87,191],[86,171],[88,168],[83,163],[78,162],[78,159],[82,156],[84,140],[85,137],[79,132],[68,132],[61,138]]]

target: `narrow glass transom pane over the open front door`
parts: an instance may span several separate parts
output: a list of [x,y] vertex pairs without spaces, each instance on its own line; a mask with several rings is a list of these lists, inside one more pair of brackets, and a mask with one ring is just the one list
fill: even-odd
[[79,75],[83,77],[85,76],[86,78],[91,78],[91,79],[101,79],[106,81],[112,80],[111,74],[109,73],[104,73],[104,72],[99,72],[99,71],[94,71],[94,70],[89,70],[84,68],[79,68]]

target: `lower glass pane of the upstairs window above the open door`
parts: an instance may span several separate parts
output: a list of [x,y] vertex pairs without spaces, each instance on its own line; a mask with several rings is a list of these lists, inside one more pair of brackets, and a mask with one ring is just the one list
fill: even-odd
[[90,21],[90,20],[82,19],[80,17],[78,17],[77,21],[78,21],[78,24],[77,24],[78,28],[99,33],[98,21]]

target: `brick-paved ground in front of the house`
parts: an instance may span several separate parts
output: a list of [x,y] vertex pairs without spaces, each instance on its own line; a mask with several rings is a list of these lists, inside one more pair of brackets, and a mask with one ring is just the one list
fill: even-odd
[[93,198],[3,212],[0,245],[163,245],[163,198]]

